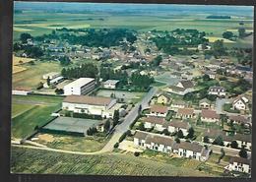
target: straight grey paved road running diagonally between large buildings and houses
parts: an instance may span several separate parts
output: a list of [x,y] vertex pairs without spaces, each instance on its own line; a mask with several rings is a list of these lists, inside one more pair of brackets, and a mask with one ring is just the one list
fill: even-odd
[[109,142],[104,146],[104,148],[99,152],[111,152],[113,150],[113,146],[118,142],[119,138],[122,134],[124,134],[127,130],[129,130],[129,126],[138,116],[139,106],[142,105],[142,109],[149,107],[149,101],[152,97],[157,93],[157,88],[152,88],[142,99],[141,102],[138,102],[131,111],[125,116],[124,121],[115,127],[115,131],[109,140]]

